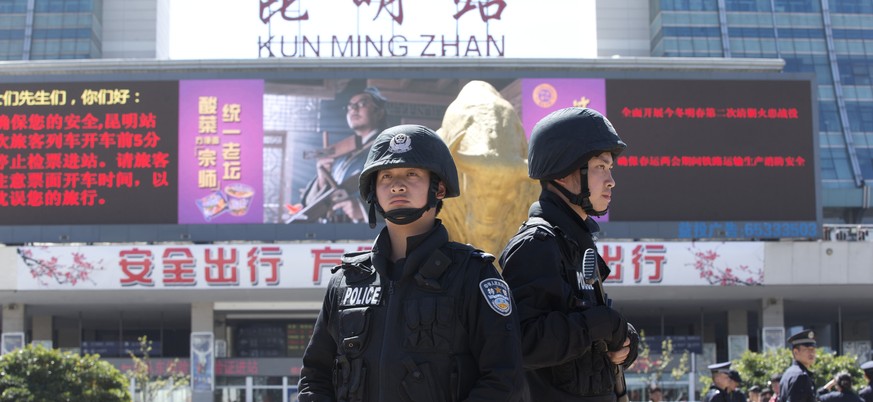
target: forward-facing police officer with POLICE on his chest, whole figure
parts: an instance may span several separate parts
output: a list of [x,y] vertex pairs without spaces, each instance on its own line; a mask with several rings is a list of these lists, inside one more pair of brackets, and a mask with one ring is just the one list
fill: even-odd
[[518,319],[494,258],[450,242],[436,214],[460,194],[445,143],[422,126],[383,131],[360,194],[386,220],[371,251],[328,284],[303,356],[299,400],[516,401]]

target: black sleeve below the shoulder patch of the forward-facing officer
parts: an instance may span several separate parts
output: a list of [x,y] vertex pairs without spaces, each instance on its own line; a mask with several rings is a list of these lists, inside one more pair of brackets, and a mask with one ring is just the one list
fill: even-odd
[[500,274],[490,262],[476,257],[471,258],[471,264],[474,267],[468,271],[463,321],[478,378],[466,400],[521,401],[525,380],[516,308],[513,305],[508,316],[494,310],[479,284],[486,279],[502,282]]

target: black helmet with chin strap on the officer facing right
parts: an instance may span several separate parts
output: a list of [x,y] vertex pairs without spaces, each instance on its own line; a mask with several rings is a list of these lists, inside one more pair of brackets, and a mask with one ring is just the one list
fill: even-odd
[[[531,131],[528,176],[551,183],[586,213],[600,216],[606,211],[595,211],[588,199],[591,196],[586,179],[588,160],[603,152],[610,152],[616,158],[626,147],[627,144],[600,112],[581,107],[556,110],[540,120]],[[577,169],[582,171],[581,193],[570,193],[554,181]]]

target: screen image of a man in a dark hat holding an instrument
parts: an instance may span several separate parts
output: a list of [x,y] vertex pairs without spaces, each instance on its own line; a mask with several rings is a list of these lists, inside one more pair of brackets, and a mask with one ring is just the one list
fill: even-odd
[[[519,80],[489,83],[512,99]],[[366,224],[359,176],[376,136],[398,124],[443,125],[463,79],[268,81],[264,221]],[[506,93],[504,93],[504,91]],[[378,219],[381,219],[379,217]]]

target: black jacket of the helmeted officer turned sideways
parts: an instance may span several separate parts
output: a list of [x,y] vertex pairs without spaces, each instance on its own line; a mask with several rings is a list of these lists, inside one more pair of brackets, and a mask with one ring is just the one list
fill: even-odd
[[[550,191],[543,191],[529,216],[503,250],[500,265],[518,305],[530,394],[537,401],[614,401],[615,367],[605,353],[592,351],[595,341],[615,337],[614,320],[604,308],[583,311],[574,305],[577,278],[571,270],[581,265],[584,250],[596,250],[591,227],[597,230],[597,224],[583,221]],[[532,223],[542,220],[551,228]],[[609,268],[598,260],[606,278]],[[632,353],[625,364],[634,359]]]

